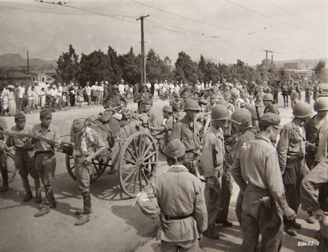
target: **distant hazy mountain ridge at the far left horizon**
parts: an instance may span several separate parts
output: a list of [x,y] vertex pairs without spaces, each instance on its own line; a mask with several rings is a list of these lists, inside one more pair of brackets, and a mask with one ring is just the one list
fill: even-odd
[[[39,58],[29,59],[30,66],[56,65],[56,60],[44,60]],[[7,53],[0,55],[0,67],[27,66],[27,59],[19,54]]]

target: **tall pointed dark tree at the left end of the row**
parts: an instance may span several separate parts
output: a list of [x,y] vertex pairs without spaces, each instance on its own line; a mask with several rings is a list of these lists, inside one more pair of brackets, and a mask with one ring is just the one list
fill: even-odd
[[62,52],[57,60],[57,79],[61,82],[70,82],[77,79],[79,73],[78,56],[72,45],[69,45],[68,52]]

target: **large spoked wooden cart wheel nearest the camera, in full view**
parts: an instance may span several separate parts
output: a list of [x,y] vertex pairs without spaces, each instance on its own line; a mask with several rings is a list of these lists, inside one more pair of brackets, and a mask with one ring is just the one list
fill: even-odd
[[147,132],[133,133],[122,145],[118,156],[119,184],[134,198],[156,173],[158,148],[156,140]]

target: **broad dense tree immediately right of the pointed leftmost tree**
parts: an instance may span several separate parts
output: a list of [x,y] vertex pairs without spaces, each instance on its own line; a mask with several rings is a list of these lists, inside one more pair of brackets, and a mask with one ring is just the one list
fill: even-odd
[[93,83],[114,78],[109,57],[100,50],[93,51],[89,55],[82,54],[80,70],[79,82],[82,86],[85,86],[88,80]]

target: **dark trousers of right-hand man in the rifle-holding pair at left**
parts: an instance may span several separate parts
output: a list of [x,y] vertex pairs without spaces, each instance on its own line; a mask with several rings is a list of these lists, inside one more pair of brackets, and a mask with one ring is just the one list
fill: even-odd
[[56,157],[54,152],[35,152],[34,166],[43,185],[45,186],[45,205],[50,205],[55,200],[52,192],[52,183],[56,170]]

